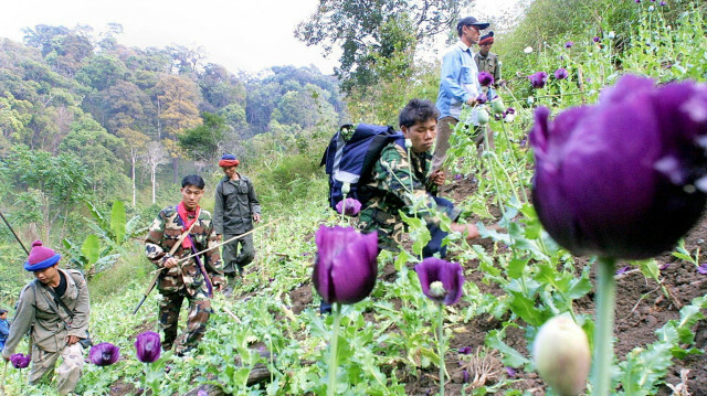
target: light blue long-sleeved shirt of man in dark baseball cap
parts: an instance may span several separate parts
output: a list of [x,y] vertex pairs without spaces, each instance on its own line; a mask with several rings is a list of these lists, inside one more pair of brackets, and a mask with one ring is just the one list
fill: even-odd
[[460,41],[447,50],[442,60],[440,95],[436,103],[440,118],[454,117],[458,120],[462,104],[477,97],[481,88],[474,53]]

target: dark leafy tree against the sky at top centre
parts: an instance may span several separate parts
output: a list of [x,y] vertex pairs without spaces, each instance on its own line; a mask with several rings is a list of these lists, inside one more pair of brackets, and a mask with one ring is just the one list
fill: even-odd
[[[307,45],[321,45],[329,54],[342,50],[336,71],[345,92],[356,86],[372,86],[379,81],[372,66],[376,54],[390,56],[395,51],[394,36],[384,30],[391,20],[407,25],[415,42],[424,42],[447,32],[458,18],[460,0],[320,0],[315,13],[295,30]],[[392,42],[391,42],[392,40]]]

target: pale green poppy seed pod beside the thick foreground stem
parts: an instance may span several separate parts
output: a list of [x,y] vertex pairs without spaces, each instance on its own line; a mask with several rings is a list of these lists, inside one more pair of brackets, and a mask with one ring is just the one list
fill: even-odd
[[540,377],[560,396],[579,395],[592,363],[587,334],[568,317],[555,317],[540,328],[532,343]]

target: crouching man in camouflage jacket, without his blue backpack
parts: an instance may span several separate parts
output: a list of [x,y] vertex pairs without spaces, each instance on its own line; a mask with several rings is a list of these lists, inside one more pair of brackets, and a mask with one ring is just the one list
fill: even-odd
[[[383,148],[372,174],[367,178],[369,182],[363,186],[363,193],[371,197],[359,214],[359,228],[363,232],[378,229],[378,245],[382,249],[399,250],[404,228],[399,214],[402,212],[407,216],[422,217],[428,224],[432,239],[423,248],[423,256],[435,253],[445,256],[442,239],[447,233],[440,229],[437,212],[432,208],[446,213],[452,221],[456,221],[461,211],[450,201],[430,193],[445,180],[444,171],[431,171],[431,149],[439,115],[430,100],[410,100],[400,113],[400,128],[410,141],[410,151],[402,147],[404,143],[391,142]],[[415,211],[416,200],[423,200],[426,208]],[[452,223],[452,229],[466,232],[469,239],[478,237],[478,229],[471,224]]]

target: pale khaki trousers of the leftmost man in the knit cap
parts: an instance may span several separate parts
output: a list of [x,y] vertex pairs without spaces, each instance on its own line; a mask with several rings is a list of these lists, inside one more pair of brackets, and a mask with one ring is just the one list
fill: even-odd
[[80,343],[66,345],[59,352],[46,352],[36,345],[33,346],[30,384],[36,384],[44,375],[48,375],[48,379],[51,378],[54,375],[54,366],[56,366],[59,357],[62,358],[62,363],[56,368],[56,390],[60,395],[74,392],[84,368],[84,349]]

